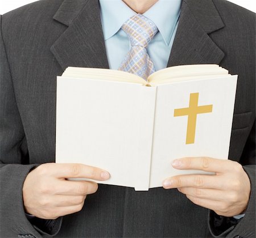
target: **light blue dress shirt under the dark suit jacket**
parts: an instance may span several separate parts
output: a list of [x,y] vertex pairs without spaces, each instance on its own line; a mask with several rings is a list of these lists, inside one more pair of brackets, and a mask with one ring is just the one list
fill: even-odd
[[[181,0],[159,0],[143,14],[159,29],[147,46],[147,53],[154,63],[155,70],[167,66],[177,30],[180,7]],[[122,0],[100,0],[100,8],[109,67],[117,70],[131,47],[126,33],[121,29],[122,24],[137,13]]]

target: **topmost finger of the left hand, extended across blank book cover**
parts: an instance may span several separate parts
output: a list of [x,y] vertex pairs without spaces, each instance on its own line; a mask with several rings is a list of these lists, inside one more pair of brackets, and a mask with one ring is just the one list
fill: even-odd
[[59,178],[86,178],[93,180],[107,180],[110,175],[107,171],[85,164],[55,164],[52,171]]

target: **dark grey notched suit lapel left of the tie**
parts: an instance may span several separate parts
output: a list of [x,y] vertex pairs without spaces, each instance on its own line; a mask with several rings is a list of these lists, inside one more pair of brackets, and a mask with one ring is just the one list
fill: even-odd
[[51,46],[60,66],[109,68],[97,0],[65,0],[53,16],[68,28]]

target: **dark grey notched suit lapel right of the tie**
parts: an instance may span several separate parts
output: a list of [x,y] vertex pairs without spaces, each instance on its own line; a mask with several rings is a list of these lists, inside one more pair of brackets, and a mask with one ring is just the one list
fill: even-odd
[[211,0],[183,0],[167,66],[219,64],[224,53],[208,34],[222,27],[224,24]]

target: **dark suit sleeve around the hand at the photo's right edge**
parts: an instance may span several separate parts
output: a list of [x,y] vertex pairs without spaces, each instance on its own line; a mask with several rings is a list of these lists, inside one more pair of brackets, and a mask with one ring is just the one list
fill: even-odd
[[251,129],[250,135],[247,139],[243,154],[241,157],[241,164],[243,169],[249,176],[251,182],[250,199],[245,212],[245,216],[240,220],[234,218],[225,218],[218,216],[213,211],[209,211],[209,228],[213,237],[255,237],[255,121]]

